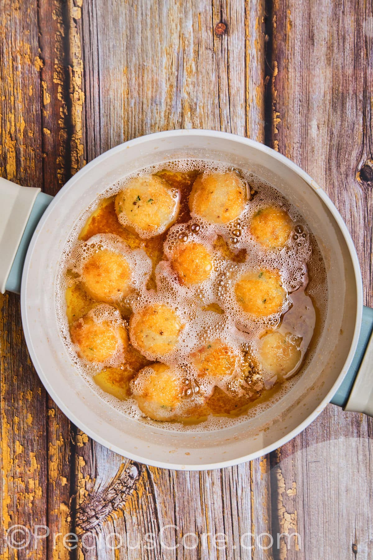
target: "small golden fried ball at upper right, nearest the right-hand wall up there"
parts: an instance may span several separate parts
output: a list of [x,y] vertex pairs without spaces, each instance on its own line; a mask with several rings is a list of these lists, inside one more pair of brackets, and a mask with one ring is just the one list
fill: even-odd
[[275,249],[286,245],[293,226],[289,214],[280,208],[268,206],[254,214],[250,231],[258,243],[267,249]]

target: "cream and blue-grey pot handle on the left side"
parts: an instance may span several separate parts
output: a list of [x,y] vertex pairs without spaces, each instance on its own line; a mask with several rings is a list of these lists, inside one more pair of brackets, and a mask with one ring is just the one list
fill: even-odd
[[0,177],[0,292],[20,293],[27,248],[53,197]]

